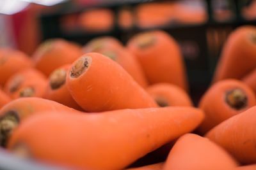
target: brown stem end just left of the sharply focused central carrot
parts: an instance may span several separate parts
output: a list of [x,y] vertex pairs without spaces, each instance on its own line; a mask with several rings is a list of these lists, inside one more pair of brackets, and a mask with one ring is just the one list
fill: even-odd
[[50,76],[51,89],[60,88],[66,81],[66,71],[64,69],[57,69]]

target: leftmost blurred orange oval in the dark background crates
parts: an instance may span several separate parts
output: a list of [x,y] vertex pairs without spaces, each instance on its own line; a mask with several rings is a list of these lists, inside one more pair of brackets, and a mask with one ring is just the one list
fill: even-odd
[[89,32],[109,31],[114,24],[114,15],[107,8],[88,10],[79,15],[77,22]]

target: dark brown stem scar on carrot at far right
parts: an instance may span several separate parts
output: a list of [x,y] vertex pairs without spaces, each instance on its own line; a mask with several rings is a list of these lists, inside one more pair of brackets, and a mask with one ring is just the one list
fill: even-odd
[[226,92],[227,104],[236,110],[241,110],[246,107],[247,101],[247,96],[241,89],[234,89]]

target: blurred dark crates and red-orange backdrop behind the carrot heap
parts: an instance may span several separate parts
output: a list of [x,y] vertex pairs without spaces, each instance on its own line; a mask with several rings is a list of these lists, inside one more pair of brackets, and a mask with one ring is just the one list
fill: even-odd
[[45,39],[84,45],[98,36],[124,44],[132,35],[163,29],[182,49],[191,95],[204,92],[228,34],[256,25],[255,0],[0,0],[0,46],[31,55]]

